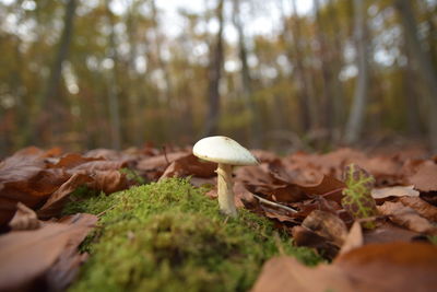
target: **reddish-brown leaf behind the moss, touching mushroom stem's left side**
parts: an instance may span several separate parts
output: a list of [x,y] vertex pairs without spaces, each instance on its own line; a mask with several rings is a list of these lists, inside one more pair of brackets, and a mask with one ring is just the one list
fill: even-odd
[[198,177],[212,177],[216,175],[216,163],[201,161],[193,154],[187,154],[186,156],[172,162],[160,179],[165,177],[185,177],[188,175]]

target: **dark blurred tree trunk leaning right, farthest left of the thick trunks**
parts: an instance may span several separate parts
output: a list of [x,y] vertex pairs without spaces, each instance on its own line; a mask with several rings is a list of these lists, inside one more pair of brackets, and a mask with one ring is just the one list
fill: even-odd
[[[47,129],[49,133],[48,139],[50,139],[52,136],[61,133],[60,120],[62,120],[62,103],[60,101],[60,87],[62,80],[62,66],[68,58],[70,44],[73,36],[76,3],[76,0],[68,0],[66,4],[63,30],[59,39],[58,51],[50,70],[50,77],[46,85],[46,91],[42,95],[39,105],[37,106],[37,113],[39,115],[39,120],[35,125],[37,129],[34,129],[32,135],[36,135],[38,129]],[[45,110],[50,110],[51,114],[49,115],[44,113]]]

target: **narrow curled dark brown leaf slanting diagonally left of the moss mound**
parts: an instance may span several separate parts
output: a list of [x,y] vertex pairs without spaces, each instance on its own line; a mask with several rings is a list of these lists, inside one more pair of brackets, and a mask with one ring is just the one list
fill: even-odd
[[79,186],[92,182],[86,174],[76,173],[62,184],[46,201],[46,203],[37,211],[39,218],[50,218],[59,214],[60,210],[68,198]]

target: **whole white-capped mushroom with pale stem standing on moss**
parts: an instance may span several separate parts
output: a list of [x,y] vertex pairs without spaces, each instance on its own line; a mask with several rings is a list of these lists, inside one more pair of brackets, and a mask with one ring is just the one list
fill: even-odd
[[192,153],[199,159],[218,163],[217,188],[220,210],[227,215],[236,217],[232,182],[233,165],[257,165],[259,162],[238,142],[224,136],[206,137],[199,140],[192,148]]

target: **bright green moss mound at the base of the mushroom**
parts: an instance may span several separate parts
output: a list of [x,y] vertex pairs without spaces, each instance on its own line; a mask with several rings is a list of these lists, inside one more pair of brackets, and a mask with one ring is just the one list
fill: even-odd
[[279,250],[308,265],[320,260],[275,235],[264,218],[247,210],[221,215],[203,191],[167,179],[69,203],[66,210],[103,212],[83,246],[90,260],[70,290],[246,291]]

